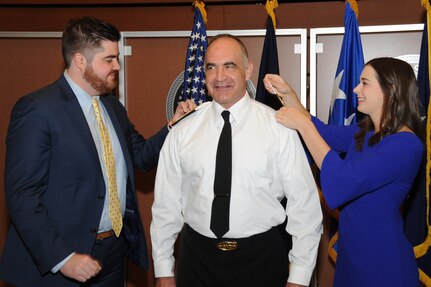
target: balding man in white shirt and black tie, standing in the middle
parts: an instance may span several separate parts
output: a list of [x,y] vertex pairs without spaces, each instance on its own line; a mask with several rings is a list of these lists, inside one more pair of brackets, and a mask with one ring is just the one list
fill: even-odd
[[[156,286],[310,283],[322,233],[316,184],[297,133],[278,124],[274,110],[248,95],[252,69],[238,38],[216,36],[205,59],[214,101],[173,127],[165,141],[152,207]],[[213,200],[219,197],[215,159],[226,110],[232,141],[230,193],[223,196],[229,200],[228,228],[216,235],[211,227]],[[284,197],[285,208],[280,204]],[[292,236],[291,250],[286,232]]]

